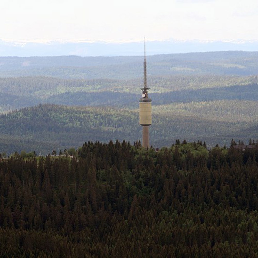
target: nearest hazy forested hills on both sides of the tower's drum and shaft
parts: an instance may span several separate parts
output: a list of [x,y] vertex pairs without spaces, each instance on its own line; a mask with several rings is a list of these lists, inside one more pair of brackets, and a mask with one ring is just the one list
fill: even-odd
[[[150,144],[170,147],[176,139],[229,146],[231,139],[257,139],[256,101],[219,100],[153,107]],[[85,141],[141,139],[138,109],[40,104],[0,115],[0,153],[48,154],[78,148]]]

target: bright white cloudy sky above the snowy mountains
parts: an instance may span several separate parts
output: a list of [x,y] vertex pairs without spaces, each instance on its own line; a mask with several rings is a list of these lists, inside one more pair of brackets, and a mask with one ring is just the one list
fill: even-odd
[[1,0],[10,41],[258,40],[257,0]]

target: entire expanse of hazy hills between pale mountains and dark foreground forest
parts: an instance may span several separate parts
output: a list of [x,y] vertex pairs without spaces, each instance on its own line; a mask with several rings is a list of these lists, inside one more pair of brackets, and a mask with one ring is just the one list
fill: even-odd
[[[0,57],[0,64],[0,152],[141,139],[142,56]],[[147,56],[150,144],[258,139],[257,67],[258,52]]]

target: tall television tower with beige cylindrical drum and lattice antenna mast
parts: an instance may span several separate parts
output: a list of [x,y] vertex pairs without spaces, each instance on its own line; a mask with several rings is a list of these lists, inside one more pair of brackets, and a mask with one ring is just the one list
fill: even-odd
[[142,97],[139,102],[140,107],[140,125],[142,126],[142,146],[144,148],[149,148],[149,126],[151,125],[151,99],[148,97],[147,87],[147,65],[146,65],[146,50],[145,50],[145,38],[144,38],[144,75],[143,75],[143,88]]

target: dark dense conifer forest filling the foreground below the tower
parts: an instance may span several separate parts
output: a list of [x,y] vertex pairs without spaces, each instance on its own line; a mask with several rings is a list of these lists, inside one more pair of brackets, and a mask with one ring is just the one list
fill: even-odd
[[258,147],[85,142],[0,159],[1,257],[256,257]]

